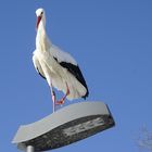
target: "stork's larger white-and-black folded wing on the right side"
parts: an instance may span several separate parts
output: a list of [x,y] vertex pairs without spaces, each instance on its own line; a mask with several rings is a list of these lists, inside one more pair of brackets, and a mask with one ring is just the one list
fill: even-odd
[[66,68],[76,79],[86,88],[86,94],[83,98],[88,97],[89,91],[86,84],[86,80],[80,72],[80,68],[77,62],[68,53],[60,50],[58,47],[52,46],[50,50],[54,60],[64,68]]

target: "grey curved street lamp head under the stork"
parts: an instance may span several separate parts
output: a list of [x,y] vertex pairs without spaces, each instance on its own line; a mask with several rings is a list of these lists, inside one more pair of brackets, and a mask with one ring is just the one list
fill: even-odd
[[83,140],[114,126],[103,102],[80,102],[65,106],[29,125],[21,126],[13,143],[23,151],[47,151]]

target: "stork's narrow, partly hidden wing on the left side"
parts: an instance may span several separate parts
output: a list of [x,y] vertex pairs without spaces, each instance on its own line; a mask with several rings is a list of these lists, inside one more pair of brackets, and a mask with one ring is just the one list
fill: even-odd
[[40,63],[39,63],[39,61],[38,61],[38,59],[37,59],[35,52],[34,52],[34,55],[33,55],[33,63],[34,63],[34,66],[35,66],[37,73],[38,73],[42,78],[46,79],[45,74],[43,74],[43,72],[42,72],[42,68],[41,68],[41,65],[40,65]]

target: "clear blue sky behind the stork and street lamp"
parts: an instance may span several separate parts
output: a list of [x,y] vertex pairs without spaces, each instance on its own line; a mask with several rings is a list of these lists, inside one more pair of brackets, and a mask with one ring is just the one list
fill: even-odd
[[47,83],[31,62],[35,11],[43,8],[53,43],[79,63],[89,87],[87,99],[104,101],[116,122],[112,129],[56,152],[138,152],[143,126],[152,128],[152,1],[2,0],[0,4],[0,151],[22,124],[52,112]]

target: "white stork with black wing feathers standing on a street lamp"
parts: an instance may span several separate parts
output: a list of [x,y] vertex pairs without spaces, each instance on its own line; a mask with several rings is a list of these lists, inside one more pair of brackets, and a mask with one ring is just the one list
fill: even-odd
[[[50,86],[54,112],[55,105],[63,104],[66,98],[68,100],[86,99],[89,91],[77,62],[49,40],[46,33],[45,10],[38,9],[36,15],[37,36],[33,62],[36,71]],[[64,93],[59,101],[56,101],[53,87]]]

